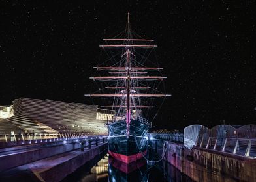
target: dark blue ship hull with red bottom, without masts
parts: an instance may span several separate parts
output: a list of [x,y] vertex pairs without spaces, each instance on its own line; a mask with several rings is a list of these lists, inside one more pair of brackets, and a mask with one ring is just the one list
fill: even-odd
[[108,125],[110,137],[108,138],[108,153],[118,161],[129,164],[146,155],[146,133],[148,124],[138,120],[131,120],[129,135],[127,135],[126,122],[120,121]]

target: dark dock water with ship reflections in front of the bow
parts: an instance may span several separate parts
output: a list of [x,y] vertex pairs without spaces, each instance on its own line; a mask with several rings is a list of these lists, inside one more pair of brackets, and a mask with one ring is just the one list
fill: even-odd
[[150,164],[145,159],[141,159],[125,164],[106,155],[96,163],[89,170],[89,165],[86,164],[63,181],[192,181],[165,161]]

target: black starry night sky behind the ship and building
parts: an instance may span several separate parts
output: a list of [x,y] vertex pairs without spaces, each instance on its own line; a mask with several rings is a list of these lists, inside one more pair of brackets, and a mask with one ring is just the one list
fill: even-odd
[[91,103],[99,45],[131,28],[158,45],[163,129],[256,123],[255,1],[1,1],[0,104]]

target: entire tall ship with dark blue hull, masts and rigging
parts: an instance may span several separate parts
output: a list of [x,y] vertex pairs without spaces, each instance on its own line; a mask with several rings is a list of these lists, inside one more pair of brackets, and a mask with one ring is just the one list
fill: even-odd
[[[106,105],[100,107],[115,110],[114,117],[108,118],[106,123],[108,153],[129,164],[146,156],[146,134],[151,124],[148,118],[152,110],[157,109],[153,103],[170,95],[160,86],[166,78],[160,72],[163,68],[153,60],[152,53],[157,45],[131,30],[129,13],[125,31],[103,42],[100,47],[108,59],[94,67],[99,76],[90,77],[99,89],[85,96],[102,99]],[[145,66],[147,63],[150,66]]]

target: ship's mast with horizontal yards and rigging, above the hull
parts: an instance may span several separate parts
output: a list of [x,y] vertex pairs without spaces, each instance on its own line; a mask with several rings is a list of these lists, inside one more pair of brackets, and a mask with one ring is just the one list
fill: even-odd
[[[95,81],[116,81],[115,86],[110,85],[104,88],[100,88],[101,94],[85,94],[85,96],[91,96],[96,98],[114,98],[113,105],[106,105],[100,107],[107,107],[118,110],[114,121],[124,120],[126,122],[127,135],[129,135],[131,120],[136,116],[131,115],[131,109],[150,109],[154,108],[152,105],[143,105],[141,99],[145,98],[165,98],[170,94],[165,94],[159,91],[155,86],[148,86],[148,81],[163,81],[167,77],[162,75],[148,75],[149,72],[159,72],[163,68],[158,67],[157,64],[152,64],[151,67],[146,67],[140,59],[135,57],[135,50],[146,51],[148,49],[154,49],[157,45],[152,45],[152,39],[134,38],[135,32],[131,31],[129,12],[127,14],[127,25],[122,37],[105,38],[104,45],[99,45],[104,51],[114,50],[120,51],[121,59],[112,66],[97,66],[93,67],[99,71],[108,71],[110,75],[99,75],[97,77],[90,77]],[[110,43],[110,44],[108,44]],[[138,53],[139,54],[139,53]],[[139,55],[140,56],[140,55]],[[144,57],[144,56],[143,56]],[[142,57],[142,59],[143,59]],[[145,58],[148,60],[148,57]],[[112,59],[110,59],[112,60]],[[144,84],[143,82],[147,83]],[[104,90],[103,90],[104,89]],[[114,93],[111,92],[116,90]],[[140,90],[144,90],[141,92]],[[149,102],[146,102],[149,103]],[[138,115],[137,115],[138,116]],[[139,116],[140,120],[140,116]]]

